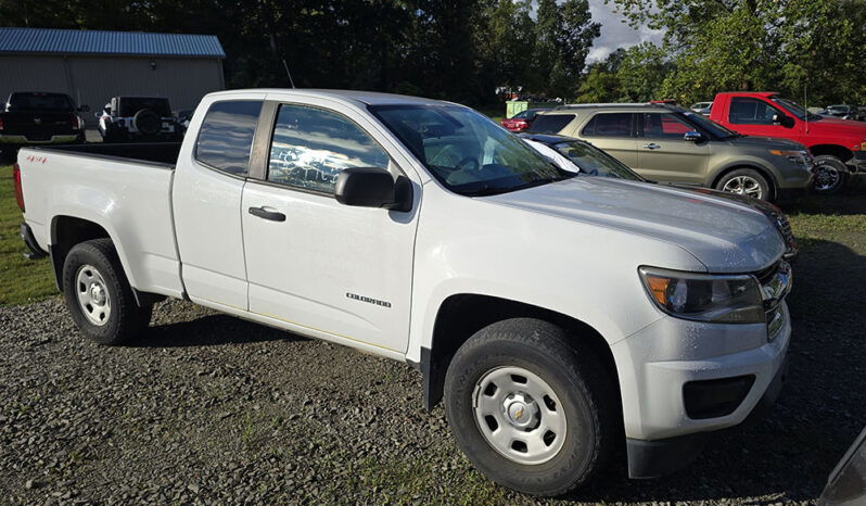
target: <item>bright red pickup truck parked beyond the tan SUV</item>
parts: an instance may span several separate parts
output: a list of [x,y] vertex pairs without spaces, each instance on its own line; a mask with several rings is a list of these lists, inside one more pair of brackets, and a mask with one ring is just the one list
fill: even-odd
[[742,135],[805,144],[815,156],[816,192],[838,191],[850,174],[866,172],[866,123],[811,114],[777,92],[718,93],[710,119]]

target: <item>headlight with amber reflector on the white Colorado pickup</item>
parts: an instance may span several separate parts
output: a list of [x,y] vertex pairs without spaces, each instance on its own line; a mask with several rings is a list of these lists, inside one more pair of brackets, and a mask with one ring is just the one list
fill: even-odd
[[655,305],[677,318],[717,324],[762,324],[766,319],[761,288],[750,275],[708,275],[638,269]]

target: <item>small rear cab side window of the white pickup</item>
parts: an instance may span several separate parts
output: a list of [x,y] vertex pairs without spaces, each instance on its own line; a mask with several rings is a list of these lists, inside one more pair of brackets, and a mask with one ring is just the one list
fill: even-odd
[[260,112],[260,100],[212,104],[199,129],[195,160],[216,170],[245,177]]

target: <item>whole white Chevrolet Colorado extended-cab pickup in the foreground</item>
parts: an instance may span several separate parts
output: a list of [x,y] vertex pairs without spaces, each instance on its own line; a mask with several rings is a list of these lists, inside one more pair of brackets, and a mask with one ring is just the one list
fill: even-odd
[[766,216],[561,170],[461,105],[218,92],[182,144],[26,148],[15,179],[85,337],[136,337],[171,296],[405,362],[528,494],[587,482],[622,438],[632,477],[673,471],[781,385]]

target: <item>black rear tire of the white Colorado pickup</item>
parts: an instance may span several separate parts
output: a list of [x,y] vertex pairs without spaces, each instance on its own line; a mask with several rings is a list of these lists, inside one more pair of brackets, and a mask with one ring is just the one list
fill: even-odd
[[[90,270],[88,266],[92,267],[91,275],[95,271],[101,278],[97,283],[100,293],[107,293],[110,311],[101,324],[94,324],[85,313],[88,309],[82,307],[84,303],[79,302],[79,291],[90,293],[93,288],[93,284],[88,287],[78,282],[79,270],[85,275]],[[111,239],[81,242],[69,251],[63,263],[63,295],[81,333],[99,344],[114,345],[138,337],[148,328],[153,311],[151,305],[140,307],[136,304]]]

